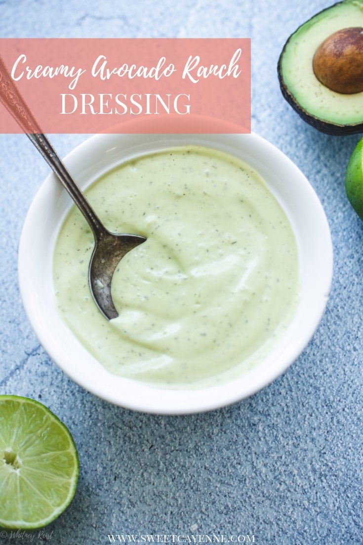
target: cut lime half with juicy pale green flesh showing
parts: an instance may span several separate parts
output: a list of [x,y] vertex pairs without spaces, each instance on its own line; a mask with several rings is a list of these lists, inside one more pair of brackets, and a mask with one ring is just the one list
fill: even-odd
[[0,526],[35,530],[62,513],[77,488],[69,429],[47,407],[0,396]]

